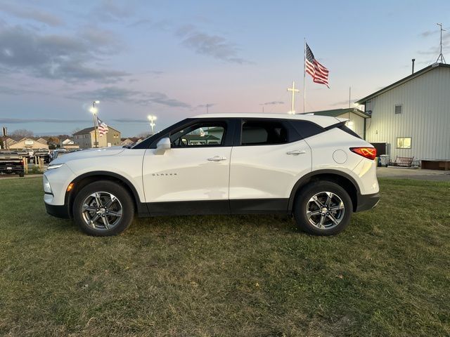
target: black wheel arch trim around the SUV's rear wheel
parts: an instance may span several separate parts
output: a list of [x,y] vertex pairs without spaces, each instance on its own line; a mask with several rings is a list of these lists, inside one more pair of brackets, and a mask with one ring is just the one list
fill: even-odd
[[295,203],[295,198],[302,192],[302,189],[316,180],[328,180],[333,183],[338,183],[342,188],[344,188],[349,194],[350,199],[352,199],[353,211],[356,211],[358,206],[358,196],[360,194],[359,186],[356,180],[347,173],[337,170],[319,170],[310,172],[305,176],[302,176],[297,183],[295,183],[293,190],[290,192],[288,213],[293,212],[293,206]]

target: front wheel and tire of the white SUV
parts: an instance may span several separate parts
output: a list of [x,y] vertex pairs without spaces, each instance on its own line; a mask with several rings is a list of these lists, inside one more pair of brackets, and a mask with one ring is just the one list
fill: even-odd
[[73,218],[86,234],[94,237],[117,235],[133,221],[134,202],[121,185],[109,180],[96,181],[77,193]]

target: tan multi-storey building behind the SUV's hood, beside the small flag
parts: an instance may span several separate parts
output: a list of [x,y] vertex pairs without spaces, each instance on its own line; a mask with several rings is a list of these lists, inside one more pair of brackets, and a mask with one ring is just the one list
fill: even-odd
[[73,140],[79,147],[83,149],[96,147],[120,146],[120,131],[108,125],[109,131],[104,136],[100,136],[98,129],[84,128],[73,134]]

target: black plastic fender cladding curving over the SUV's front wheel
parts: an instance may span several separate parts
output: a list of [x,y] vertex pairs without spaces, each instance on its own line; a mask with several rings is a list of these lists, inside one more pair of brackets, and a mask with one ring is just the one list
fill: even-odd
[[[94,177],[94,176],[105,176],[105,177],[113,178],[113,180],[119,180],[121,183],[123,183],[125,186],[127,186],[128,189],[133,194],[132,197],[134,199],[134,204],[136,205],[136,211],[138,213],[138,216],[148,216],[147,205],[145,203],[142,203],[141,200],[139,199],[139,193],[137,192],[134,185],[124,176],[121,176],[120,174],[110,172],[110,171],[87,172],[87,173],[83,173],[82,175],[80,175],[77,178],[75,178],[74,180],[72,180],[72,183],[75,184],[75,189],[70,192],[65,193],[65,202],[64,202],[66,205],[68,205],[70,207],[70,214],[72,213],[72,209],[71,209],[72,208],[71,203],[72,203],[72,199],[73,199],[72,194],[74,191],[79,190],[79,187],[77,187],[77,183],[81,180],[84,180],[89,177]],[[92,180],[92,181],[94,181],[94,180]]]

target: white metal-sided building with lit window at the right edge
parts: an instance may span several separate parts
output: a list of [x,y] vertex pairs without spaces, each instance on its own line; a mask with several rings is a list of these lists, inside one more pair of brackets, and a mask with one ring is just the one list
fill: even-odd
[[[366,140],[390,144],[392,160],[450,159],[450,65],[426,67],[356,103],[371,114]],[[397,138],[411,138],[411,148],[398,148]]]

